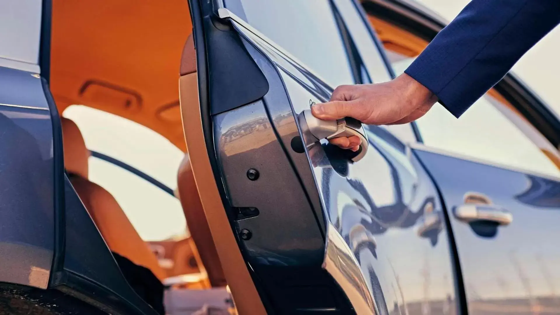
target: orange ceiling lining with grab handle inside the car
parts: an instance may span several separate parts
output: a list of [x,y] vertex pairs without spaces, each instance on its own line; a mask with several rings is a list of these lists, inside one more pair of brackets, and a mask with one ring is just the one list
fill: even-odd
[[186,0],[53,1],[50,89],[150,128],[185,151],[177,81]]

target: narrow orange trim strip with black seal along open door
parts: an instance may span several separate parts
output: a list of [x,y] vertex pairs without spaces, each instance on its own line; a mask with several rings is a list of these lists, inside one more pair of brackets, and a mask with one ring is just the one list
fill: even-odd
[[[208,82],[207,49],[209,47],[206,45],[205,19],[214,15],[213,7],[211,3],[189,1],[189,9],[194,38],[194,46],[191,48],[193,50],[189,53],[195,54],[197,63],[195,72],[181,74],[179,95],[193,180],[198,189],[203,217],[208,223],[237,311],[241,314],[267,314],[248,265],[239,250],[236,234],[228,217],[231,214],[226,212],[228,207],[227,203],[223,202],[226,197],[221,185],[211,137],[213,125],[209,115],[211,105],[208,104],[211,93],[209,93]],[[184,53],[183,59],[185,55]],[[183,187],[179,189],[184,190],[185,186],[181,186]]]

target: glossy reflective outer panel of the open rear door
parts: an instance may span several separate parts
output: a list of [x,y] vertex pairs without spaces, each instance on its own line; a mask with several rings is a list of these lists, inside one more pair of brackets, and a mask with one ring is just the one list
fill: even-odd
[[[275,113],[270,115],[270,120],[286,121],[274,124],[277,137],[292,139],[297,135],[293,128],[289,128],[295,122],[293,115],[309,108],[310,101],[325,101],[332,90],[290,56],[267,45],[262,36],[254,36],[241,27],[238,30],[267,55],[281,74],[291,106],[271,100],[265,101],[265,108],[271,114]],[[257,63],[266,74],[265,67]],[[275,86],[277,83],[270,83],[271,90]],[[255,125],[256,117],[249,113],[266,119],[266,112],[259,109],[262,105],[249,109],[254,105],[247,105],[243,115],[235,115],[235,121],[238,121],[236,129],[248,130],[248,135],[258,130],[250,128]],[[221,125],[214,125],[215,129],[219,127]],[[360,162],[348,162],[345,152],[325,143],[310,147],[307,154],[300,154],[310,159],[297,173],[305,176],[312,170],[314,178],[313,185],[304,185],[303,190],[319,192],[323,216],[328,220],[326,225],[336,229],[353,253],[351,263],[357,264],[361,270],[358,278],[365,280],[366,290],[375,301],[377,313],[400,311],[419,314],[422,309],[455,313],[458,310],[455,271],[437,190],[400,140],[379,127],[370,127],[368,131],[371,150]],[[272,130],[269,137],[272,141]],[[246,144],[249,145],[249,142]],[[284,147],[294,154],[288,143],[284,142]],[[223,145],[221,148],[223,150]],[[304,170],[305,167],[307,170]],[[286,172],[291,172],[289,167],[286,167]],[[241,175],[238,172],[236,178],[241,178]],[[230,180],[226,182],[231,186]],[[282,182],[275,184],[281,185]],[[295,191],[292,187],[297,185],[290,187]],[[260,213],[264,211],[259,210]],[[298,222],[298,217],[291,218],[293,222]],[[351,267],[347,266],[345,270],[351,270]]]

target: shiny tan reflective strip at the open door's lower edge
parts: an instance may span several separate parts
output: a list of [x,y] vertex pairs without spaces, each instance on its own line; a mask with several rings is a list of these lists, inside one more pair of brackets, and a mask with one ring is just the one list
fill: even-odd
[[357,315],[379,314],[360,264],[332,223],[328,223],[323,269],[337,281]]

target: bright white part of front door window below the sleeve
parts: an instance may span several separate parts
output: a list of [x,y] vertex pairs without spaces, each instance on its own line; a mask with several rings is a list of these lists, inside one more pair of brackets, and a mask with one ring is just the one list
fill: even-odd
[[416,124],[424,144],[430,147],[560,176],[560,169],[546,154],[556,150],[539,148],[504,115],[504,111],[511,109],[486,95],[479,98],[460,119],[436,104]]

